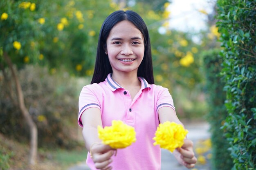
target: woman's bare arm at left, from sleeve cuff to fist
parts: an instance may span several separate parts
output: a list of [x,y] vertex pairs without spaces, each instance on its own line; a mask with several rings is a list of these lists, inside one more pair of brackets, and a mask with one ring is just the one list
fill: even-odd
[[83,123],[82,133],[85,147],[92,154],[95,167],[97,169],[111,170],[112,167],[109,164],[112,162],[111,156],[114,154],[114,150],[108,145],[101,144],[98,138],[97,127],[102,127],[99,108],[92,107],[86,109],[81,116],[81,120]]

